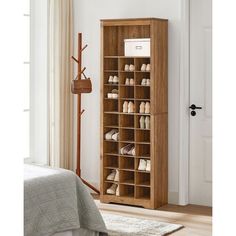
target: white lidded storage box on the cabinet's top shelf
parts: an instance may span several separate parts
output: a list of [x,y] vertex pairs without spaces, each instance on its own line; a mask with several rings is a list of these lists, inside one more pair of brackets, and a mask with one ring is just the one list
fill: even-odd
[[150,38],[125,39],[125,56],[150,57]]

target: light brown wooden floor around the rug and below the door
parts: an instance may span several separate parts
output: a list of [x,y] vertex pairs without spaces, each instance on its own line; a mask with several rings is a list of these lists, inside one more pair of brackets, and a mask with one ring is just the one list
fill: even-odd
[[212,208],[196,205],[166,205],[158,210],[148,210],[117,204],[103,204],[95,200],[98,208],[104,212],[152,219],[162,222],[184,225],[184,228],[171,234],[173,236],[209,236],[212,235]]

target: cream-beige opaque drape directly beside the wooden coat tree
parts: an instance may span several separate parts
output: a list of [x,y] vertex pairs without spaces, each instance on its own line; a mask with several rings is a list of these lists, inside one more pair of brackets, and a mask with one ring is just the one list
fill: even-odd
[[49,0],[49,164],[72,169],[72,0]]

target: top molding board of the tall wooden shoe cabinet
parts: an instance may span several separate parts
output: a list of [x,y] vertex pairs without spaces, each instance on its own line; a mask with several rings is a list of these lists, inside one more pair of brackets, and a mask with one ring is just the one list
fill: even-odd
[[120,26],[120,25],[151,25],[152,21],[168,21],[161,18],[132,18],[132,19],[102,19],[102,26]]

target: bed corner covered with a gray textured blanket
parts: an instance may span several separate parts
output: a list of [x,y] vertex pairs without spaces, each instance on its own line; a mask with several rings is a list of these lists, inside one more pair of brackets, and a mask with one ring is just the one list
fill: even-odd
[[86,187],[72,172],[25,164],[25,236],[51,236],[78,228],[107,235]]

